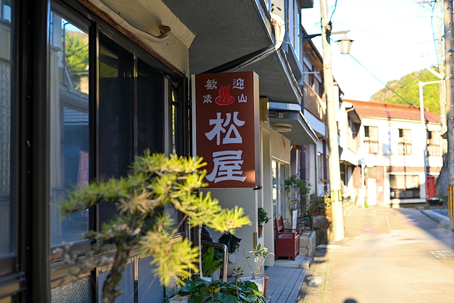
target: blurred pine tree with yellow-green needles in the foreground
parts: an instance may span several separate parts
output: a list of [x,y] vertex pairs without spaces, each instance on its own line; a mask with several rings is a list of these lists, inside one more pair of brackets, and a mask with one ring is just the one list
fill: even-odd
[[[132,171],[127,177],[93,182],[69,193],[63,203],[62,212],[70,214],[102,203],[117,206],[118,216],[103,224],[100,231],[88,231],[84,239],[93,241],[88,251],[72,251],[70,245],[52,251],[54,258],[62,258],[72,265],[70,275],[78,276],[94,267],[107,266],[110,271],[102,285],[101,302],[115,302],[122,294],[119,286],[133,246],[140,248],[144,257],[153,256],[156,266],[154,273],[161,284],[175,280],[181,285],[181,277],[189,277],[190,271],[198,272],[195,262],[199,258],[198,247],[192,247],[188,239],[169,241],[186,218],[191,218],[190,226],[206,225],[220,232],[233,233],[236,228],[251,224],[244,210],[239,207],[222,209],[218,200],[210,194],[196,193],[196,189],[207,186],[203,182],[206,163],[202,159],[184,158],[163,154],[137,157]],[[162,207],[173,205],[183,213],[177,227],[174,222],[162,215]],[[111,250],[113,256],[102,255]],[[103,257],[100,257],[103,256]]]

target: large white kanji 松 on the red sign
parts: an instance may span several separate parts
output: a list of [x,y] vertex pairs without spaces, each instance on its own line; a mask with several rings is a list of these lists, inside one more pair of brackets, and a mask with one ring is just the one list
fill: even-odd
[[[214,125],[213,129],[205,133],[208,140],[211,141],[216,137],[216,144],[219,145],[220,135],[221,133],[225,133],[224,127],[227,127],[230,124],[229,130],[222,138],[222,144],[243,143],[243,137],[240,135],[237,126],[243,126],[245,121],[238,119],[238,114],[239,112],[234,112],[232,119],[232,113],[226,113],[224,122],[224,119],[221,118],[221,113],[216,113],[216,119],[210,119],[210,125]],[[231,123],[231,120],[233,120],[233,123]]]

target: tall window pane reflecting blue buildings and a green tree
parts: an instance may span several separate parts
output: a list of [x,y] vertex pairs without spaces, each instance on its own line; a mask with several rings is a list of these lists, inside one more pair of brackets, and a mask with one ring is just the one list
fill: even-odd
[[51,13],[50,242],[75,242],[88,230],[88,210],[62,220],[66,191],[89,181],[88,28]]

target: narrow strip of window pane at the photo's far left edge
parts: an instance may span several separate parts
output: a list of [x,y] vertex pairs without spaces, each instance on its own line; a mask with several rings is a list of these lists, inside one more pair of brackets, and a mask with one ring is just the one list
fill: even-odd
[[9,1],[0,8],[4,19],[0,21],[0,258],[14,253],[15,209],[10,196],[14,3]]

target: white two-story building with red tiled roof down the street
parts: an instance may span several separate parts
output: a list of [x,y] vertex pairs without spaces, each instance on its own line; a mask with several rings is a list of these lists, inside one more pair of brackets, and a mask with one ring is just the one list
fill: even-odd
[[357,153],[364,170],[355,176],[364,179],[366,203],[385,207],[425,203],[426,184],[434,184],[443,164],[440,117],[424,109],[422,121],[419,107],[343,101],[361,117]]

